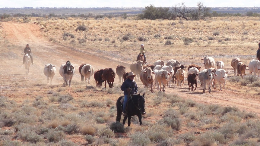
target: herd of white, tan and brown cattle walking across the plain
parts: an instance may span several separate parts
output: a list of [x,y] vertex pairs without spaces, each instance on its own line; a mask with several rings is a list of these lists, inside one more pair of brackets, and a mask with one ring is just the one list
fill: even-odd
[[[157,60],[154,64],[149,65],[143,64],[143,61],[134,61],[130,65],[130,70],[136,75],[135,80],[139,81],[140,79],[144,87],[151,88],[151,92],[153,92],[155,86],[157,90],[165,91],[166,86],[171,88],[171,83],[182,87],[186,77],[189,90],[194,91],[197,89],[197,81],[199,79],[203,93],[205,93],[206,88],[208,88],[209,93],[211,92],[211,87],[216,89],[216,82],[220,86],[220,91],[222,91],[222,85],[224,88],[228,74],[228,72],[224,70],[224,62],[217,61],[217,68],[214,68],[215,60],[213,57],[204,57],[201,60],[204,61],[203,64],[205,69],[201,70],[201,67],[198,65],[191,64],[187,69],[187,74],[185,71],[187,67],[174,59],[170,59],[166,64],[164,61]],[[250,75],[254,72],[255,76],[260,76],[259,60],[253,59],[248,65],[245,65],[236,57],[232,59],[231,66],[234,69],[234,76],[241,76],[244,78],[246,67],[248,67]],[[126,67],[122,65],[118,65],[116,71],[110,67],[94,71],[94,68],[90,64],[81,64],[78,71],[81,75],[81,81],[83,82],[85,78],[87,84],[90,84],[90,77],[94,75],[97,88],[101,88],[103,82],[105,82],[105,88],[106,82],[108,83],[109,88],[112,88],[116,74],[118,75],[119,83],[122,83],[128,75]],[[47,77],[47,83],[49,84],[50,79],[50,84],[52,84],[53,76],[56,73],[55,66],[46,64],[43,73]],[[71,79],[74,73],[75,69],[70,61],[62,64],[59,70],[59,74],[64,79],[64,84],[68,86],[71,86]]]

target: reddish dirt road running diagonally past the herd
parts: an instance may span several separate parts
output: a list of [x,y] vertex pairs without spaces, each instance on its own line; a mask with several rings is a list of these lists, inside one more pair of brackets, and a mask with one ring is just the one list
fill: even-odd
[[[40,27],[36,24],[2,22],[1,26],[3,28],[4,38],[10,42],[10,45],[15,44],[21,46],[21,48],[12,50],[1,49],[1,55],[3,58],[0,60],[2,64],[4,64],[2,68],[6,69],[0,71],[0,78],[3,82],[15,82],[23,79],[28,80],[30,76],[30,80],[45,83],[46,77],[43,74],[44,65],[52,63],[58,66],[56,68],[59,70],[60,65],[64,64],[67,60],[70,60],[76,68],[76,73],[72,80],[78,81],[80,80],[80,75],[77,69],[82,63],[91,64],[95,70],[106,67],[112,67],[115,69],[119,64],[127,67],[130,65],[129,63],[122,63],[115,58],[109,58],[108,60],[106,57],[98,57],[94,52],[82,51],[77,48],[70,48],[52,43],[43,36]],[[27,43],[32,49],[35,63],[30,67],[29,76],[25,75],[25,69],[22,65],[23,50]],[[231,70],[231,68],[228,70]],[[232,76],[232,72],[229,75]],[[116,77],[115,83],[117,82],[118,77]],[[59,75],[58,71],[54,77],[53,83],[62,84],[62,77]],[[211,93],[208,93],[206,90],[206,93],[203,94],[201,87],[198,87],[195,92],[189,92],[187,82],[185,84],[186,85],[182,88],[173,85],[172,89],[166,88],[166,92],[175,93],[183,98],[192,99],[198,103],[236,106],[241,110],[257,113],[258,115],[260,114],[259,95],[248,95],[248,93],[241,94],[237,93],[236,90],[227,88],[223,89],[223,91],[219,91],[219,87]],[[138,82],[138,85],[141,86],[141,82]],[[2,88],[7,88],[6,86],[8,85],[5,84]],[[27,86],[30,87],[30,85]],[[10,97],[12,95],[8,96]]]

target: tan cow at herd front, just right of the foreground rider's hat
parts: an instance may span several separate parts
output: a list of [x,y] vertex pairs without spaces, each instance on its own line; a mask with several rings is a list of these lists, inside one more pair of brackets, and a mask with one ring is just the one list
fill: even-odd
[[151,69],[151,67],[145,68],[140,75],[140,80],[143,82],[144,87],[148,88],[149,85],[151,85],[151,92],[153,92],[153,86],[154,86],[154,72]]

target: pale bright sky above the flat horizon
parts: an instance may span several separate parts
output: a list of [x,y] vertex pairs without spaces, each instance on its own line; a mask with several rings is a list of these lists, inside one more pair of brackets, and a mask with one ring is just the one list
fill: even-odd
[[150,4],[155,7],[172,7],[182,2],[186,7],[197,7],[198,2],[206,7],[260,7],[259,0],[0,0],[0,8],[144,8]]

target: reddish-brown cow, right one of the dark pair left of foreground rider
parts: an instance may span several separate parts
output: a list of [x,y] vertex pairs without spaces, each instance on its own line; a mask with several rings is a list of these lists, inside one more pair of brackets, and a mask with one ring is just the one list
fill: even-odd
[[106,82],[109,85],[109,88],[113,87],[115,77],[116,77],[116,72],[112,68],[107,67],[107,68],[104,69],[103,79],[105,81],[105,88],[106,88]]

